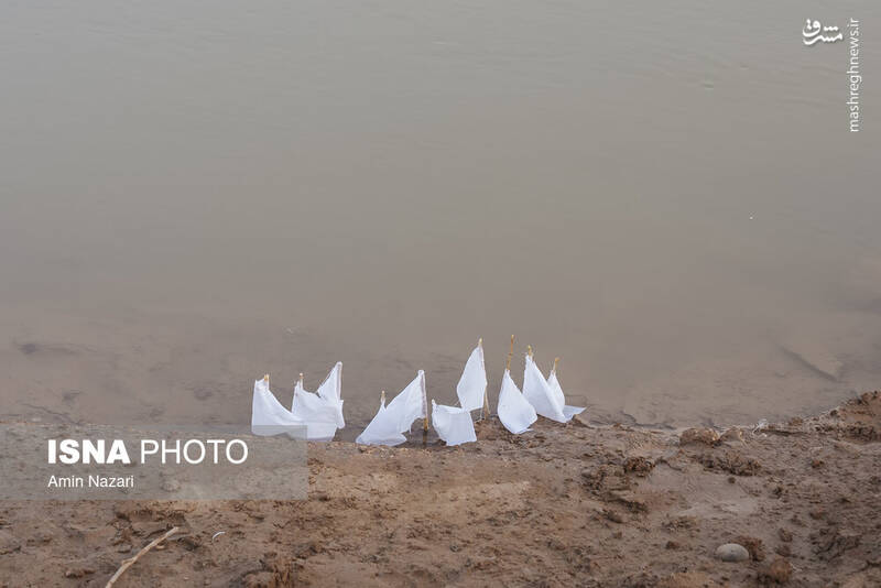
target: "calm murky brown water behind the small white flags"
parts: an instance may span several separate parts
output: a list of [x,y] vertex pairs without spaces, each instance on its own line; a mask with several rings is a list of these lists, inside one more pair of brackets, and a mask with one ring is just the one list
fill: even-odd
[[[808,17],[863,24],[859,133]],[[880,17],[6,1],[0,414],[246,423],[339,359],[357,425],[478,337],[494,402],[511,333],[595,417],[881,386]]]

